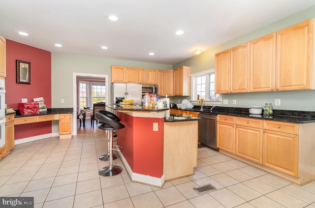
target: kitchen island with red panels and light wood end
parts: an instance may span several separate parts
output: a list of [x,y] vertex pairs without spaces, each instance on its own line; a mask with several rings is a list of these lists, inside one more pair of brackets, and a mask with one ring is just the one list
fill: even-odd
[[166,180],[193,175],[198,118],[165,118],[166,110],[114,108],[126,126],[117,130],[117,144],[123,147],[118,153],[132,181],[162,187]]

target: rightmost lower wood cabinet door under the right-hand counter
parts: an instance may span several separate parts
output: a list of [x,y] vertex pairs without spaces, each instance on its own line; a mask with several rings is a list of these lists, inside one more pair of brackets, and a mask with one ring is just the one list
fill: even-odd
[[265,130],[263,165],[298,177],[298,135]]

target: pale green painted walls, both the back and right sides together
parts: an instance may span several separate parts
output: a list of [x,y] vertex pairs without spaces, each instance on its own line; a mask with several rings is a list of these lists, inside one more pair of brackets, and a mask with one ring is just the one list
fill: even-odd
[[[73,107],[73,72],[107,74],[110,78],[111,65],[160,70],[168,70],[186,65],[191,66],[191,73],[197,73],[213,69],[215,66],[214,57],[218,52],[314,17],[315,6],[312,6],[264,28],[255,30],[250,34],[205,51],[198,56],[174,64],[173,66],[167,64],[52,53],[52,107]],[[64,99],[64,103],[60,102],[62,98]],[[274,104],[275,98],[281,99],[281,106],[274,106],[275,109],[315,111],[315,90],[223,94],[222,99],[227,99],[228,105],[221,106],[250,107],[251,105],[264,105],[266,102]],[[178,99],[189,99],[189,97],[171,97],[171,100],[175,103]],[[236,105],[232,104],[233,99],[236,99]]]

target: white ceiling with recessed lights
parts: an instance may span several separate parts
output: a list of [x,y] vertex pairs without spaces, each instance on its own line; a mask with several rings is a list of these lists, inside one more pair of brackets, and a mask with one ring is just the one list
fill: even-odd
[[[312,5],[315,0],[1,0],[0,35],[50,52],[175,64],[195,56],[194,49],[209,50]],[[109,21],[109,14],[119,20]],[[176,35],[179,29],[185,33]]]

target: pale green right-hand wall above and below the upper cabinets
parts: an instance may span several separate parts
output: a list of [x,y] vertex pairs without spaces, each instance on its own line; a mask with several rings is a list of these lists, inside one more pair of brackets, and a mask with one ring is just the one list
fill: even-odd
[[[315,6],[205,51],[198,56],[179,62],[173,68],[183,65],[190,66],[192,74],[213,69],[215,67],[214,58],[216,53],[311,18],[315,18]],[[315,90],[222,94],[222,99],[227,99],[228,105],[218,106],[249,108],[251,105],[263,106],[266,102],[274,104],[274,99],[281,99],[281,106],[274,106],[275,109],[315,111]],[[234,99],[236,99],[236,105],[232,104]]]

